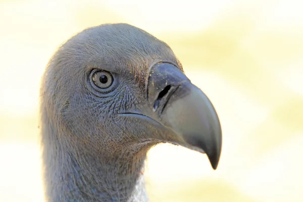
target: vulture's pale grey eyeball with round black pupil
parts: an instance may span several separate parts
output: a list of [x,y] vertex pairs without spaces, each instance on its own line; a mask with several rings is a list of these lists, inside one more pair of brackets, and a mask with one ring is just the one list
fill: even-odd
[[92,81],[98,88],[105,89],[113,84],[114,77],[110,72],[96,71],[92,75]]

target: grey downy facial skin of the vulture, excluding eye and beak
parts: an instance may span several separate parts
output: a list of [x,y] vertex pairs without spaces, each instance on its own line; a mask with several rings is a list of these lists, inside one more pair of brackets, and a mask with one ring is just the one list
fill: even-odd
[[[146,104],[150,65],[166,60],[182,67],[166,43],[146,32],[125,24],[106,26],[84,30],[60,47],[44,75],[42,110],[54,126],[61,126],[58,133],[64,135],[59,138],[113,156],[110,151],[129,151],[134,143],[149,145],[150,132],[155,137],[163,134],[159,126],[119,116]],[[113,75],[111,87],[100,90],[93,85],[91,73],[97,70]]]

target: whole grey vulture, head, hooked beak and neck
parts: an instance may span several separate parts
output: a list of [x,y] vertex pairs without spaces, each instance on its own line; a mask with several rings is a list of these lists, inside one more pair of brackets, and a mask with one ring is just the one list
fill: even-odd
[[218,166],[222,132],[210,99],[165,42],[129,24],[76,34],[49,60],[40,88],[47,201],[148,201],[148,149],[171,143]]

